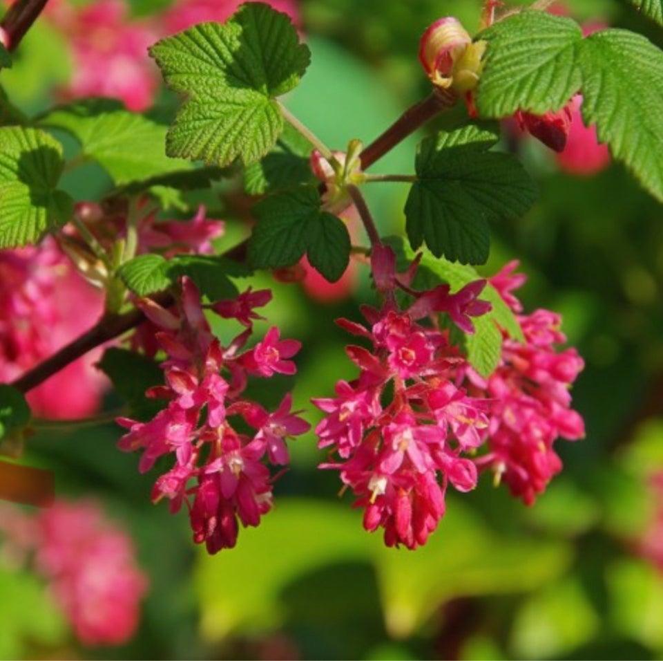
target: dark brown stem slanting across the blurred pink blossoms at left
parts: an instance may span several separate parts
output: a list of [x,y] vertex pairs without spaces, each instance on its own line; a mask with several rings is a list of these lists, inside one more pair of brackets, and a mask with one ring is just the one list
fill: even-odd
[[[167,292],[154,296],[152,299],[164,307],[171,306],[175,302]],[[127,330],[135,328],[144,319],[145,316],[138,308],[129,310],[122,315],[104,315],[86,333],[62,347],[57,353],[27,371],[10,385],[22,393],[27,393],[66,367],[70,362],[81,357],[81,355],[88,353],[100,344],[104,344],[104,342],[119,337]]]

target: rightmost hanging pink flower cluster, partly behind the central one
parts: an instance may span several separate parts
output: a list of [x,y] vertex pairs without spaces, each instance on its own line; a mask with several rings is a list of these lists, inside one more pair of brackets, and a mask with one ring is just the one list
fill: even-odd
[[[509,263],[491,283],[518,313],[521,304],[511,292],[523,276],[512,273],[516,266]],[[506,482],[514,496],[531,505],[561,470],[554,441],[584,437],[584,421],[570,408],[569,392],[584,362],[575,348],[557,348],[566,342],[559,315],[536,310],[517,319],[525,341],[505,333],[497,370],[487,380],[472,376],[493,402],[488,454],[477,463],[490,466],[496,480]]]

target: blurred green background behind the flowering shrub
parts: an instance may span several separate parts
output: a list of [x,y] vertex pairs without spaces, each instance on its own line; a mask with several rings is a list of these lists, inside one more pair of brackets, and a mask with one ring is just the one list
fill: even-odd
[[[132,8],[143,15],[167,4]],[[626,1],[568,0],[566,8],[663,44],[663,31]],[[369,142],[427,94],[416,59],[425,27],[455,15],[474,31],[480,9],[477,0],[302,0],[313,59],[285,102],[334,149],[350,138]],[[37,26],[3,84],[21,109],[39,111],[50,86],[66,80],[68,62],[66,39]],[[162,93],[158,112],[172,110]],[[372,171],[411,173],[415,145],[408,140]],[[524,507],[485,476],[475,492],[449,494],[448,514],[425,548],[386,549],[379,534],[363,531],[349,494],[338,498],[338,476],[316,469],[323,453],[308,434],[291,444],[276,509],[259,528],[242,530],[237,548],[208,557],[193,546],[184,512],[151,505],[158,467],[139,475],[137,456],[115,447],[116,427],[40,433],[26,460],[55,470],[59,495],[95,494],[126,523],[151,591],[130,644],[84,649],[64,625],[34,625],[50,622],[54,606],[34,598],[33,577],[0,572],[1,656],[663,658],[663,559],[657,568],[637,551],[663,508],[648,490],[650,476],[663,471],[663,208],[618,165],[575,178],[534,141],[503,147],[518,151],[540,198],[525,218],[492,227],[483,272],[520,259],[529,275],[526,309],[561,312],[570,344],[586,360],[573,391],[586,439],[557,444],[565,469],[537,504]],[[67,184],[90,198],[107,182],[81,169]],[[225,182],[203,198],[209,216],[228,221],[227,241],[245,232],[237,190]],[[406,194],[399,184],[369,189],[384,232],[401,231]],[[278,402],[294,383],[296,407],[319,419],[309,397],[354,376],[347,337],[333,320],[357,318],[357,305],[372,298],[365,272],[359,280],[351,298],[321,304],[298,285],[255,278],[275,291],[269,322],[304,344],[296,380],[258,384],[258,399]],[[108,396],[109,410],[119,404]],[[15,608],[30,599],[34,608]]]

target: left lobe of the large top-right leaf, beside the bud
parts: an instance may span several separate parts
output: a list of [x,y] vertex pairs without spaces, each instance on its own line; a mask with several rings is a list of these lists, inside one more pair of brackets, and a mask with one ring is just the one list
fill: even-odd
[[575,21],[525,10],[479,35],[488,41],[477,89],[481,117],[506,117],[519,109],[556,111],[581,86]]

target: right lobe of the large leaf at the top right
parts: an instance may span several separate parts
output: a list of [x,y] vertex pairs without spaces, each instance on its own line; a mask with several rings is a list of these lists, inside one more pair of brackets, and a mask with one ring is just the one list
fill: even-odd
[[663,52],[627,30],[595,32],[579,52],[585,122],[663,201]]

